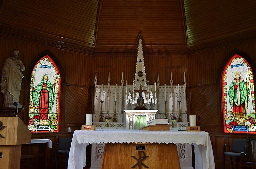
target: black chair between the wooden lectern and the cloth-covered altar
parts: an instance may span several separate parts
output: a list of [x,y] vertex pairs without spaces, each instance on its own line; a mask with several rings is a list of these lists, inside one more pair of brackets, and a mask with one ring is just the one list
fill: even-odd
[[72,138],[60,138],[57,143],[56,169],[58,168],[58,154],[69,154]]

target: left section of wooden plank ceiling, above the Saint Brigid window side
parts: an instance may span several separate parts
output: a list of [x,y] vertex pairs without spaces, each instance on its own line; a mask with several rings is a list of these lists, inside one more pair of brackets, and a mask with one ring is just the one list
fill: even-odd
[[94,44],[97,10],[98,0],[6,0],[0,21],[32,33]]

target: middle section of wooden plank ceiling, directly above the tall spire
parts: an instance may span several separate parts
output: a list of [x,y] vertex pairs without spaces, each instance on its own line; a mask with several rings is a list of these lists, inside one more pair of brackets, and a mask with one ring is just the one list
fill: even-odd
[[145,44],[184,45],[179,0],[104,0],[100,11],[97,45],[137,44],[142,31]]

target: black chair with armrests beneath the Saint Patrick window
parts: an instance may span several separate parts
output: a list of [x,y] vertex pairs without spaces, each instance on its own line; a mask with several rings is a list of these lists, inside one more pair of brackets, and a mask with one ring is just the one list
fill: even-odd
[[[226,151],[225,147],[228,146],[228,151]],[[235,139],[232,142],[232,151],[230,151],[230,147],[228,144],[224,144],[223,146],[223,169],[225,169],[225,156],[230,157],[232,169],[234,169],[232,157],[236,157],[236,169],[238,167],[237,161],[238,158],[241,157],[241,152],[245,151],[246,147],[246,139]]]

